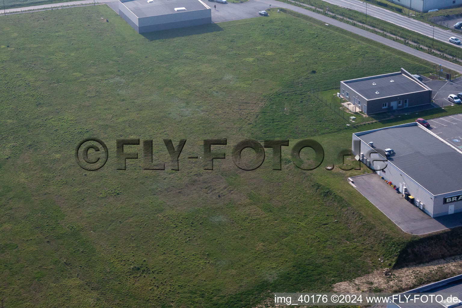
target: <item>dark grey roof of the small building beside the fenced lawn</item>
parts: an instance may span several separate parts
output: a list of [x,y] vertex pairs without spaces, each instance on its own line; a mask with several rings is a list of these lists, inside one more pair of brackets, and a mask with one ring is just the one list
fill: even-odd
[[401,72],[345,80],[342,82],[368,100],[418,91],[429,91],[425,85],[420,84],[419,81]]

